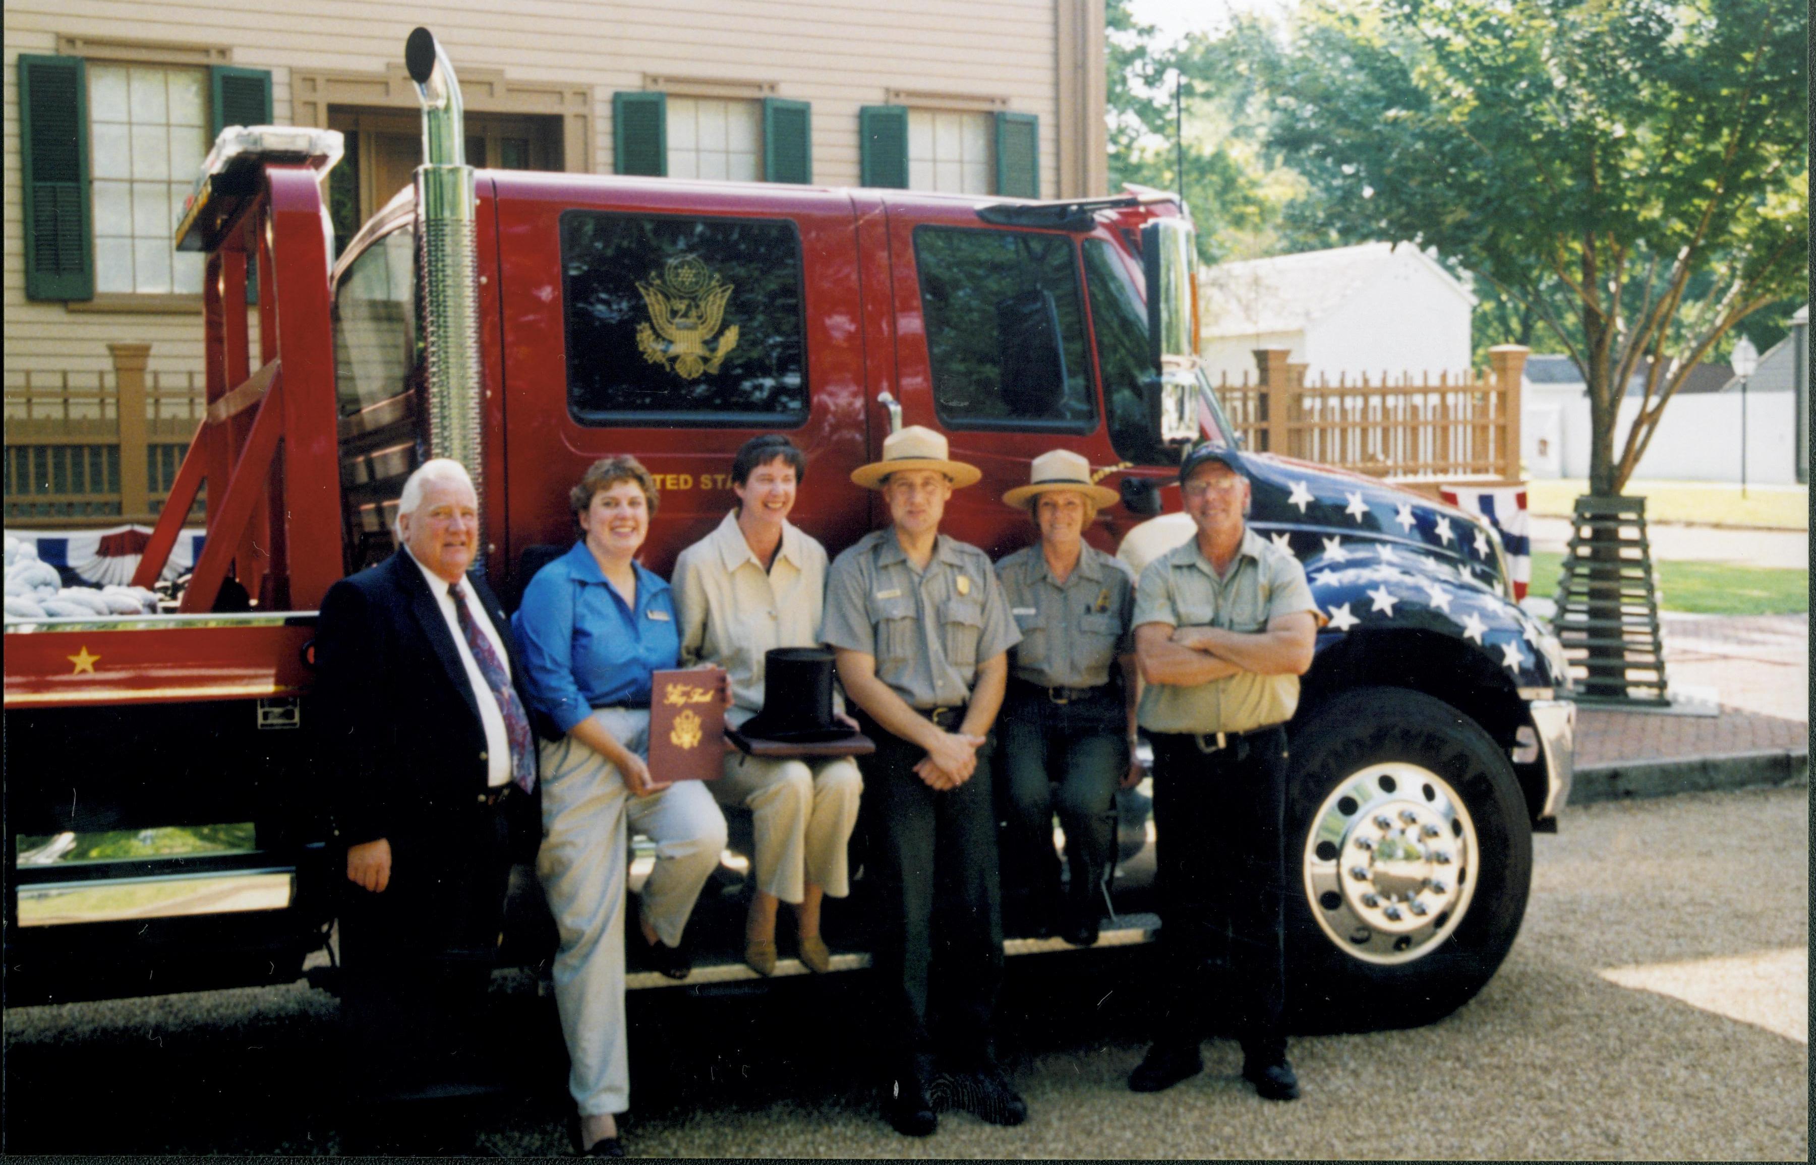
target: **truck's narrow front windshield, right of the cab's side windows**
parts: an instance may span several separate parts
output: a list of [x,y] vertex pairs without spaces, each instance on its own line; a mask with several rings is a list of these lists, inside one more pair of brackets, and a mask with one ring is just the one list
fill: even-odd
[[1104,240],[1084,240],[1084,285],[1097,332],[1097,374],[1110,412],[1110,443],[1135,465],[1179,465],[1148,421],[1142,385],[1155,376],[1148,347],[1148,305],[1128,267]]

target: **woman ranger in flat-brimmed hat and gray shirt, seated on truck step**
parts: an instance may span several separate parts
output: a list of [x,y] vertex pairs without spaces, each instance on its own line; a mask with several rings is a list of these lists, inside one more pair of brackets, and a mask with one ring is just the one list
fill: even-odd
[[[1100,887],[1113,860],[1117,784],[1135,784],[1135,577],[1084,543],[1115,490],[1091,483],[1070,450],[1035,457],[1030,483],[1002,495],[1028,510],[1041,541],[997,563],[1022,641],[1010,657],[1002,704],[1008,829],[1002,898],[1008,927],[1097,942]],[[1061,893],[1053,808],[1066,829],[1071,886]]]

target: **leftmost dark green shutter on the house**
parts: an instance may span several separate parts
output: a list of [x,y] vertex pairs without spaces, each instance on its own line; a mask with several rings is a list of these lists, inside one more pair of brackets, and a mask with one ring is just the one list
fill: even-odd
[[80,56],[18,58],[25,298],[93,299],[89,82]]

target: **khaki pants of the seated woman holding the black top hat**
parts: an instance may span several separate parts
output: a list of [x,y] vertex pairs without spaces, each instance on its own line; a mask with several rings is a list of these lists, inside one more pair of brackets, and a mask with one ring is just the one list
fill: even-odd
[[750,858],[755,886],[799,904],[812,882],[830,898],[852,893],[846,842],[857,824],[864,780],[850,757],[819,760],[725,757],[725,777],[712,782],[721,806],[745,806],[755,824]]

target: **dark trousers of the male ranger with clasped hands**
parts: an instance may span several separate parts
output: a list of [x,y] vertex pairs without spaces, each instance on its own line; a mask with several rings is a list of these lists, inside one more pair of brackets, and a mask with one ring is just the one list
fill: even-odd
[[1002,904],[990,751],[957,789],[935,791],[913,766],[926,757],[859,715],[877,751],[859,764],[879,882],[872,967],[879,991],[877,1043],[890,1071],[939,1054],[957,1067],[990,1056],[1002,982]]

